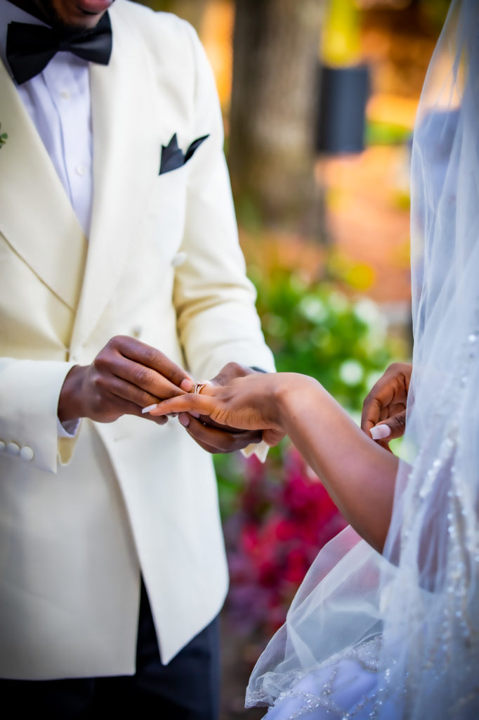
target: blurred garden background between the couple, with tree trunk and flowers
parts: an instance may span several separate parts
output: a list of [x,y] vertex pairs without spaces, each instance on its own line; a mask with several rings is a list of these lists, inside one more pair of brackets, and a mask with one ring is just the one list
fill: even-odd
[[[278,370],[316,377],[359,421],[375,379],[411,355],[411,132],[449,2],[144,1],[191,22],[209,56]],[[222,720],[255,720],[252,667],[345,522],[288,441],[264,465],[215,463],[231,575]]]

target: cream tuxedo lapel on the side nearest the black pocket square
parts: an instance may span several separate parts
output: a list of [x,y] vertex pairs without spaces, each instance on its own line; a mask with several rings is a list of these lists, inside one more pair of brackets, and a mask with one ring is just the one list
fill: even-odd
[[134,248],[158,175],[161,135],[160,128],[152,127],[154,88],[146,86],[145,49],[119,14],[111,12],[111,24],[109,66],[90,69],[93,214],[72,346],[86,341],[104,312]]

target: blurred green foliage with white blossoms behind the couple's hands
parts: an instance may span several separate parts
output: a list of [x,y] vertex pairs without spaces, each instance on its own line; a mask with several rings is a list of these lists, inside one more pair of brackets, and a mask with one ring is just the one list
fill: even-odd
[[351,411],[391,362],[386,320],[365,297],[335,284],[308,283],[286,269],[251,268],[257,309],[279,372],[311,375]]

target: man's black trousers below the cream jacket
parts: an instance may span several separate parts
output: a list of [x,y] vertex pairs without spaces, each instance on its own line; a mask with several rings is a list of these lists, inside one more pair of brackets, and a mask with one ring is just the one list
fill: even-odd
[[168,665],[161,665],[150,603],[142,583],[135,675],[70,680],[0,680],[3,707],[14,716],[49,720],[217,720],[219,619]]

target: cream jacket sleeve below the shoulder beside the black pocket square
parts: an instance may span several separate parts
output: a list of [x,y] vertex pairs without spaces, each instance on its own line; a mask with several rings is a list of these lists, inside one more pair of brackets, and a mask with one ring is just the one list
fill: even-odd
[[229,361],[274,371],[239,246],[214,76],[188,30],[196,71],[191,138],[207,138],[188,161],[186,261],[174,288],[181,343],[194,377],[214,377]]

